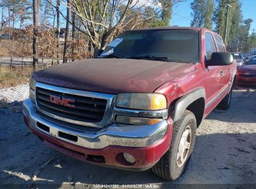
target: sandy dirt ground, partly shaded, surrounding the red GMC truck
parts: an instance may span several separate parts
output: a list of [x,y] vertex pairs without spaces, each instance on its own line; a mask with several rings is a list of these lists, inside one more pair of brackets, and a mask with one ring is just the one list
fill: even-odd
[[9,107],[11,110],[0,108],[0,188],[115,187],[98,184],[121,188],[123,184],[126,188],[170,188],[173,184],[256,187],[255,88],[234,90],[228,111],[214,110],[207,116],[197,129],[186,173],[174,182],[156,177],[151,170],[128,172],[98,167],[62,155],[29,132],[21,116],[21,103]]

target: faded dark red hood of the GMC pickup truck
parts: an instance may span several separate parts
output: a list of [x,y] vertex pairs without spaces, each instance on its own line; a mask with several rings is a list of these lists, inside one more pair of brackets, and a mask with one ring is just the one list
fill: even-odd
[[192,63],[117,58],[86,59],[34,73],[41,83],[102,93],[151,93],[167,81],[194,71]]

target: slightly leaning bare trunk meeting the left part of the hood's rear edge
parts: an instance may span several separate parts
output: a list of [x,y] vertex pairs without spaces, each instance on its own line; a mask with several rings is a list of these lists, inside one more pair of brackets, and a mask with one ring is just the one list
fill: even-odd
[[67,63],[67,53],[69,51],[69,25],[70,25],[70,0],[67,0],[67,21],[66,21],[66,29],[65,29],[65,42],[64,42],[64,51],[63,51],[63,63]]

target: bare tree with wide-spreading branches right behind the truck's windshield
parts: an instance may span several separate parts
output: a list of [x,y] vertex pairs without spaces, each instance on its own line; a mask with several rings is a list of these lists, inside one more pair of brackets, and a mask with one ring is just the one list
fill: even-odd
[[[162,5],[159,0],[140,1],[140,3],[139,0],[76,0],[69,3],[61,0],[80,19],[85,30],[80,29],[77,25],[74,27],[88,36],[94,49],[104,49],[108,42],[113,40],[131,22],[133,22],[133,25],[130,29],[133,29],[141,23],[159,16],[161,11],[170,4],[173,6],[180,1],[183,0],[169,1]],[[159,3],[161,6],[159,6]],[[52,4],[52,6],[54,5]],[[154,6],[154,14],[145,17],[144,13],[147,6]],[[127,21],[126,17],[131,17],[134,12],[140,12],[140,15],[136,14],[136,17],[132,17],[132,19]],[[62,12],[60,14],[70,22],[69,18],[62,14]]]

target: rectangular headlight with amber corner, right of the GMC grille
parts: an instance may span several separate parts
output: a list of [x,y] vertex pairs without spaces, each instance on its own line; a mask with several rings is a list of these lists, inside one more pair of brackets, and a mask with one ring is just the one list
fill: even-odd
[[116,107],[158,110],[166,109],[166,98],[158,93],[123,93],[118,94],[116,98]]

